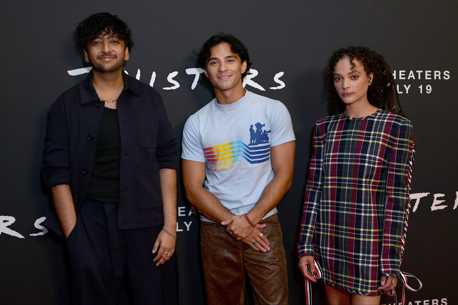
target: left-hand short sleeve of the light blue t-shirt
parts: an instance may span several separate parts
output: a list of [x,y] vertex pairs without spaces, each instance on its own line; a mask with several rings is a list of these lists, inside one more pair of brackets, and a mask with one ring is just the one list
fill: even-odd
[[183,128],[183,150],[181,158],[197,162],[205,162],[205,152],[202,148],[201,136],[199,134],[198,120],[189,117]]

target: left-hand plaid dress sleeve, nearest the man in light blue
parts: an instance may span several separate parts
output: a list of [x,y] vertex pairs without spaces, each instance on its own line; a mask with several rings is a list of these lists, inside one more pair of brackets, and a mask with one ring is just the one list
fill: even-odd
[[315,123],[313,135],[313,155],[310,162],[310,175],[305,188],[304,210],[300,224],[297,252],[299,257],[314,256],[313,234],[315,232],[316,214],[320,206],[323,171],[323,148],[325,143],[323,124]]

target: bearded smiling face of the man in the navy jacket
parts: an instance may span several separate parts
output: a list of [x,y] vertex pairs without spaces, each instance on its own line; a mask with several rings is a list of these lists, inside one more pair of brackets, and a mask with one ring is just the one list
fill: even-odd
[[116,72],[121,70],[124,62],[129,59],[129,49],[125,48],[124,41],[116,34],[103,33],[88,43],[84,59],[91,64],[94,71]]

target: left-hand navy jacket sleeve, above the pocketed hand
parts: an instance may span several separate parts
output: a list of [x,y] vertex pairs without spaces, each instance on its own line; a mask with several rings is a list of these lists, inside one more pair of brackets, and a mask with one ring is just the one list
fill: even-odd
[[70,184],[69,130],[63,97],[51,106],[44,146],[42,174],[46,187]]

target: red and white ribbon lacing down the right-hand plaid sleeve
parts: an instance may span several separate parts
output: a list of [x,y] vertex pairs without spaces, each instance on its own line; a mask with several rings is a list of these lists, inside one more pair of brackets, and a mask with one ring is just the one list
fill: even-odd
[[[409,227],[409,213],[410,213],[410,208],[411,208],[411,206],[410,206],[410,184],[412,183],[412,164],[414,163],[414,154],[415,154],[415,146],[413,145],[412,146],[412,153],[410,154],[410,158],[409,158],[409,173],[408,173],[408,176],[407,176],[407,189],[409,191],[409,200],[407,200],[407,209],[405,210],[404,230],[403,230],[403,234],[402,234],[402,237],[401,237],[401,250],[399,251],[399,254],[401,256],[401,264],[402,264],[402,256],[404,254],[405,239],[407,237],[407,228]],[[408,277],[415,278],[418,281],[418,284],[419,284],[418,289],[412,288],[412,286],[410,286],[407,283],[407,278]],[[421,289],[421,287],[423,287],[423,283],[421,283],[421,281],[417,277],[415,277],[414,275],[412,275],[410,273],[407,273],[407,272],[400,271],[399,272],[399,278],[401,279],[401,281],[403,283],[402,300],[401,300],[400,304],[404,305],[405,304],[405,289],[407,288],[410,291],[418,291],[418,290]],[[388,295],[394,296],[394,300],[395,300],[394,304],[398,304],[398,300],[397,300],[397,297],[396,297],[396,291],[394,289],[388,291]]]

